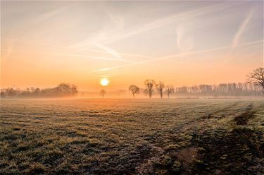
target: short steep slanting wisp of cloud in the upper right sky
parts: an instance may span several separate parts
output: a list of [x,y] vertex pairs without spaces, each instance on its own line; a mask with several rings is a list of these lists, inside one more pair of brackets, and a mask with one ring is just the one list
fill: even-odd
[[251,10],[249,14],[246,16],[244,21],[239,25],[239,29],[237,30],[236,34],[234,35],[233,41],[232,41],[232,49],[237,47],[237,44],[239,43],[240,37],[242,34],[244,34],[247,25],[249,24],[249,21],[251,19],[253,11]]

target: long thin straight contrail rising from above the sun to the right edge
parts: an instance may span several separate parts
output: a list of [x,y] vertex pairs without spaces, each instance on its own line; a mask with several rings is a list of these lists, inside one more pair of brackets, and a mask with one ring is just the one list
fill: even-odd
[[[260,42],[263,42],[263,40],[258,40],[258,41],[254,41],[254,42],[246,42],[246,43],[243,43],[243,44],[239,44],[238,46],[239,47],[240,46],[246,46],[246,45],[251,45],[251,44],[257,44],[257,43],[260,43]],[[196,51],[196,52],[185,52],[185,53],[182,53],[182,54],[173,54],[173,55],[163,56],[163,57],[156,58],[156,59],[140,61],[140,62],[136,62],[136,63],[132,63],[132,64],[122,64],[122,65],[119,65],[119,66],[113,66],[111,68],[101,68],[101,69],[92,71],[91,73],[101,72],[101,71],[109,71],[109,70],[112,70],[114,68],[122,68],[122,67],[126,67],[126,66],[134,66],[134,65],[137,65],[137,64],[146,64],[146,63],[149,63],[149,62],[152,62],[152,61],[158,61],[158,60],[162,60],[162,59],[172,59],[172,58],[175,58],[175,57],[178,57],[178,56],[187,56],[187,55],[191,55],[191,54],[202,54],[202,53],[205,53],[205,52],[212,52],[212,51],[217,51],[217,50],[222,50],[222,49],[228,49],[230,47],[232,47],[232,45],[224,46],[224,47],[217,47],[217,48],[213,48],[213,49],[205,49],[205,50]]]

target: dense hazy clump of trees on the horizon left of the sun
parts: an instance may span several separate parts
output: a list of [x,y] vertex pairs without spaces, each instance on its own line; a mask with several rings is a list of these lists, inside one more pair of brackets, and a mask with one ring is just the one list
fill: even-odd
[[19,90],[8,87],[1,90],[1,97],[69,97],[76,96],[77,86],[69,83],[61,83],[56,87],[39,89],[39,87],[27,87],[26,90]]

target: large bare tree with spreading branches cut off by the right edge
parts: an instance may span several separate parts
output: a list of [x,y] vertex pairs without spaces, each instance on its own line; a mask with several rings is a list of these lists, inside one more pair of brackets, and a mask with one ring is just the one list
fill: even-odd
[[249,74],[249,83],[260,86],[264,92],[264,68],[256,68]]

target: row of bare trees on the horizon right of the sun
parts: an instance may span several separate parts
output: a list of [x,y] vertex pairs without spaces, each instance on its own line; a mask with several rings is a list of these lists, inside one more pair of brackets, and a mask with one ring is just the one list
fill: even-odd
[[[164,85],[162,81],[156,83],[155,80],[145,80],[144,94],[151,98],[154,92],[160,95],[163,94],[168,98],[171,94],[187,95],[187,96],[241,96],[241,95],[263,95],[264,92],[264,68],[256,68],[252,73],[249,73],[246,83],[220,83],[219,85],[194,85],[174,87],[173,85]],[[128,90],[133,97],[139,94],[140,88],[137,85],[130,85]]]

